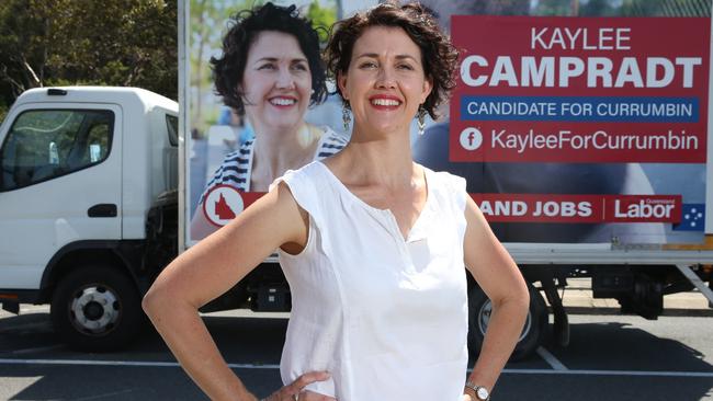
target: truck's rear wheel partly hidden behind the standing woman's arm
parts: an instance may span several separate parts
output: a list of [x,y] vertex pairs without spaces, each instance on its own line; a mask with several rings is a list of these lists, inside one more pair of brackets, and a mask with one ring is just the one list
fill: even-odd
[[[547,333],[547,306],[540,291],[532,286],[529,286],[529,288],[530,311],[510,360],[521,360],[530,356],[540,346]],[[480,287],[473,286],[468,294],[468,347],[475,354],[483,346],[491,312],[493,302],[490,302],[490,299]]]

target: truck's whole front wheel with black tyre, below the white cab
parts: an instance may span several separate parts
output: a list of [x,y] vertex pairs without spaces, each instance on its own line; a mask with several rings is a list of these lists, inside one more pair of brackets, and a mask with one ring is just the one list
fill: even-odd
[[55,332],[71,348],[118,350],[142,331],[145,316],[134,282],[118,268],[82,266],[59,282],[52,299]]

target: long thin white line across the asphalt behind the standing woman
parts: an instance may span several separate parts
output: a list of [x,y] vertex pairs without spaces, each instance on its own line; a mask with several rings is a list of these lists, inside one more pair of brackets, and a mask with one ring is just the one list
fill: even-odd
[[[0,358],[0,365],[76,365],[76,366],[129,366],[129,367],[179,367],[176,362],[137,360],[87,360],[87,359],[10,359]],[[235,369],[280,369],[280,365],[228,364]],[[468,369],[471,371],[471,369]],[[591,370],[591,369],[505,369],[511,375],[581,375],[581,376],[654,376],[713,378],[713,371],[666,371],[666,370]]]

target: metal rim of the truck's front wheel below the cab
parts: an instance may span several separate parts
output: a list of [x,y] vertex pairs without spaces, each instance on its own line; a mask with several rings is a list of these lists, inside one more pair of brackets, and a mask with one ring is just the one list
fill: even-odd
[[112,331],[122,314],[116,294],[107,287],[97,285],[77,291],[69,310],[75,328],[92,335]]

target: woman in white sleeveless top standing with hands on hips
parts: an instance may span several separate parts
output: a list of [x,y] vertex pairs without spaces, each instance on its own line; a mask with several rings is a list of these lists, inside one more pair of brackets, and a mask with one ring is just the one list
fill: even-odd
[[[340,22],[327,50],[353,113],[349,145],[287,172],[183,253],[145,309],[210,397],[254,400],[196,309],[279,248],[293,297],[287,385],[267,400],[488,399],[522,329],[527,286],[464,180],[414,163],[408,140],[417,111],[433,115],[452,88],[456,53],[420,5],[394,3]],[[464,265],[494,305],[467,382]]]

